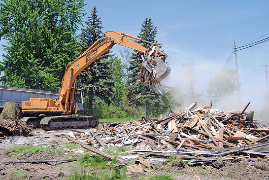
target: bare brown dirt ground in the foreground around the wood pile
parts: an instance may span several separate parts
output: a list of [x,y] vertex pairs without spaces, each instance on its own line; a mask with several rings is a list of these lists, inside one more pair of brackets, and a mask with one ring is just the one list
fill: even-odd
[[[68,130],[43,131],[34,130],[31,137],[10,137],[0,140],[1,162],[7,161],[30,161],[47,159],[67,159],[72,156],[81,156],[85,149],[79,149],[79,153],[69,153],[59,150],[59,144],[70,143],[64,136]],[[10,151],[21,145],[50,147],[40,152],[28,152],[20,156]],[[57,150],[58,149],[58,150]],[[13,153],[13,154],[12,154]],[[12,154],[12,155],[11,155]],[[74,162],[46,162],[46,163],[10,163],[0,164],[0,179],[20,179],[19,175],[26,180],[65,180],[67,176],[77,167]],[[19,174],[15,176],[14,174]],[[158,169],[151,173],[136,173],[130,176],[131,179],[152,177],[160,174],[168,174],[175,180],[268,180],[269,179],[269,158],[249,162],[247,160],[221,161],[200,166],[188,166],[172,162],[169,165],[160,164]],[[16,178],[17,177],[17,178]]]

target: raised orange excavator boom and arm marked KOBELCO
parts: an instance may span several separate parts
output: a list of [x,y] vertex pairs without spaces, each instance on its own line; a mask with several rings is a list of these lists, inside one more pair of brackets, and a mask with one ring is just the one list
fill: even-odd
[[[72,85],[73,85],[77,75],[81,71],[83,71],[86,67],[88,67],[90,64],[92,64],[94,61],[96,61],[102,54],[104,54],[110,48],[112,48],[113,45],[115,45],[115,44],[129,47],[131,49],[136,50],[137,53],[140,53],[142,55],[142,59],[143,59],[142,69],[143,68],[144,68],[144,70],[146,69],[148,71],[147,74],[150,74],[150,73],[151,74],[154,73],[154,75],[158,74],[158,71],[157,71],[158,68],[156,68],[156,65],[157,65],[157,67],[159,66],[158,64],[162,64],[160,66],[166,66],[166,67],[164,67],[165,69],[162,68],[162,69],[164,69],[162,71],[165,72],[165,75],[164,75],[164,73],[161,74],[159,81],[162,80],[164,77],[166,77],[170,73],[169,66],[166,63],[164,63],[164,60],[165,60],[167,54],[162,52],[157,44],[143,40],[145,42],[152,43],[152,45],[150,47],[152,50],[150,51],[150,48],[147,49],[147,48],[141,46],[140,44],[134,42],[133,40],[129,39],[128,37],[134,38],[134,39],[139,40],[139,41],[143,40],[141,38],[127,35],[124,33],[117,33],[117,32],[108,31],[108,32],[105,32],[100,39],[98,39],[93,45],[91,45],[91,47],[89,47],[77,59],[70,62],[67,65],[66,73],[65,73],[65,76],[63,77],[63,80],[62,80],[62,89],[60,92],[60,96],[59,96],[58,101],[55,103],[55,105],[60,106],[60,107],[65,105],[65,107],[62,107],[62,108],[64,108],[65,113],[68,113],[68,98],[69,98],[69,94],[70,94]],[[154,60],[152,60],[152,58],[150,58],[150,57],[156,57],[156,58]],[[151,66],[155,65],[155,68],[150,67],[149,63],[151,61],[153,62],[152,63],[153,65],[151,65]],[[153,72],[153,70],[155,72]],[[145,80],[149,80],[148,75],[146,77],[147,77],[147,79],[145,79]],[[149,84],[149,86],[150,86],[150,84]]]

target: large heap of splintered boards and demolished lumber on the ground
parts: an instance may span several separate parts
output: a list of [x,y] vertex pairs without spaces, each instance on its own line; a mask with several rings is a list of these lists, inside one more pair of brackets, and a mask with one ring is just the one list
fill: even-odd
[[[193,103],[186,110],[171,112],[165,119],[115,122],[73,136],[96,148],[129,146],[136,157],[118,158],[120,162],[115,166],[134,160],[153,168],[152,158],[171,156],[199,164],[218,158],[257,160],[269,155],[269,128],[255,123],[253,111],[225,111],[211,106],[202,108]],[[141,171],[140,167],[130,168]]]

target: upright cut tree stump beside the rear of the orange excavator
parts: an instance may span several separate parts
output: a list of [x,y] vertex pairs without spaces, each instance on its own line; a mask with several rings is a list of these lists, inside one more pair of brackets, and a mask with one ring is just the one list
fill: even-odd
[[21,116],[21,107],[18,103],[6,102],[0,114],[2,119],[18,119]]

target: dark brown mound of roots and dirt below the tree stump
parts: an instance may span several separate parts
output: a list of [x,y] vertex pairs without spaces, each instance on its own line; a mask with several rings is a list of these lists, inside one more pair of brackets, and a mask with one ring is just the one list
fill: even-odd
[[32,136],[32,128],[21,124],[19,119],[0,118],[0,137],[3,136]]

